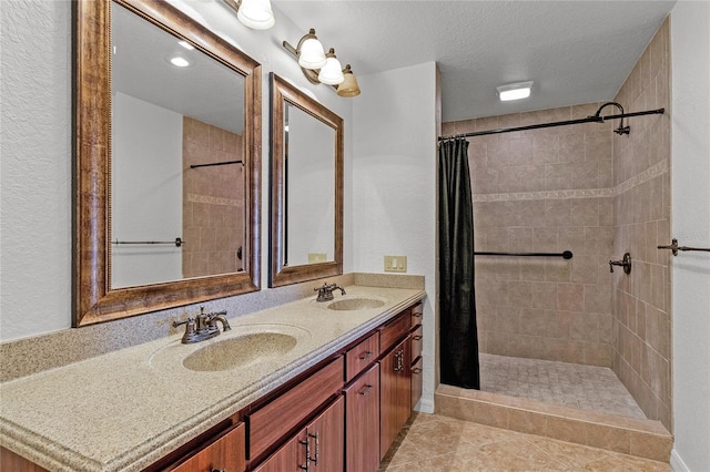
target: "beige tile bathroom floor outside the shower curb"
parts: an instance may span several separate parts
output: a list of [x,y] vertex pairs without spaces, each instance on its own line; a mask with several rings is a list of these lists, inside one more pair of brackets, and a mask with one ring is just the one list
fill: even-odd
[[415,413],[399,434],[385,471],[672,472],[662,462],[426,413]]

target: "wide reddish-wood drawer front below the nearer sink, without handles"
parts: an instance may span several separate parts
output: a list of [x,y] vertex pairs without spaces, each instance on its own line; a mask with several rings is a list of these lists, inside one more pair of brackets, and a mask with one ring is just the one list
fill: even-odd
[[313,411],[343,388],[345,368],[338,357],[323,369],[284,392],[247,417],[250,459],[276,443],[288,431],[308,418]]

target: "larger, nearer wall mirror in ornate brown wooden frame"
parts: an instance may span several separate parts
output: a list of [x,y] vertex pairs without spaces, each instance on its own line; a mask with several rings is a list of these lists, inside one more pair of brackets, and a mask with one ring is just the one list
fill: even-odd
[[74,4],[73,325],[258,290],[258,63],[168,2]]

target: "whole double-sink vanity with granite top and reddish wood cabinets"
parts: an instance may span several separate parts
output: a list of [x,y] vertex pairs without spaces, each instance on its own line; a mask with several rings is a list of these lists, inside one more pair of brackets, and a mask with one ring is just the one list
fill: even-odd
[[2,383],[2,469],[376,470],[420,396],[425,293],[345,288]]

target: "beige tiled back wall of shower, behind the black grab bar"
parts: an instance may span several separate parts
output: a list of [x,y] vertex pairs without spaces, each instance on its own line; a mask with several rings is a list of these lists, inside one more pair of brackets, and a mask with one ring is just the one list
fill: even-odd
[[[566,121],[599,103],[445,123],[443,134]],[[610,367],[611,125],[469,137],[481,352]]]

